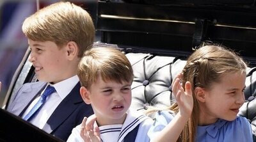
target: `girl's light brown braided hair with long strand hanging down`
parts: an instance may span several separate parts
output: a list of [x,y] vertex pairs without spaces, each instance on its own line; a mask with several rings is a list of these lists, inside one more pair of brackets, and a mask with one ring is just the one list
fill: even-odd
[[[234,72],[246,72],[246,63],[235,52],[220,45],[205,45],[197,49],[182,70],[183,88],[186,81],[191,83],[194,106],[191,117],[186,123],[178,141],[193,142],[196,136],[196,127],[199,120],[199,106],[195,97],[195,88],[210,89],[212,83],[221,81],[221,75]],[[174,103],[169,108],[177,113],[179,106]]]

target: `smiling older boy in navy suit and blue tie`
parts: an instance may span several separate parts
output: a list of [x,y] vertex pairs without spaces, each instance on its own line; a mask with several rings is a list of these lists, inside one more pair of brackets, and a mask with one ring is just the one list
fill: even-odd
[[93,114],[79,95],[77,77],[95,37],[92,18],[76,4],[58,2],[25,19],[22,31],[38,81],[21,86],[7,110],[66,141],[72,128]]

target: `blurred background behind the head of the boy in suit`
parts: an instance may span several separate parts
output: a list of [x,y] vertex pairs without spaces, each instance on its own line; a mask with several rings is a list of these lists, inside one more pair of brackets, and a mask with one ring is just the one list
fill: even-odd
[[[22,33],[22,22],[26,17],[36,12],[37,8],[43,8],[60,0],[0,0],[0,81],[2,88],[0,92],[0,106],[8,91],[13,74],[22,61],[28,49],[28,40]],[[93,10],[89,10],[95,20],[95,0],[71,1],[85,4]],[[36,4],[38,2],[38,4]],[[93,7],[94,6],[94,7]]]

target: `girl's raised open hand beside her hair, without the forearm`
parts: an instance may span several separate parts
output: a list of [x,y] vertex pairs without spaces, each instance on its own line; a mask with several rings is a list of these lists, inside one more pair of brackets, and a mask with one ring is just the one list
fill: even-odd
[[179,105],[179,113],[182,116],[190,117],[193,110],[193,95],[191,91],[191,83],[189,81],[185,84],[185,90],[180,83],[182,74],[178,74],[173,80],[172,92]]

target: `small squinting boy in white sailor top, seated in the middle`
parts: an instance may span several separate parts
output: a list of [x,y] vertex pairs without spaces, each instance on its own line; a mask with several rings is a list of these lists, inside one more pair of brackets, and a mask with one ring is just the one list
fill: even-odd
[[95,114],[84,118],[68,141],[149,141],[152,119],[129,109],[134,75],[122,52],[93,47],[84,52],[77,72],[81,97],[92,105]]

